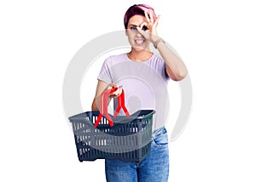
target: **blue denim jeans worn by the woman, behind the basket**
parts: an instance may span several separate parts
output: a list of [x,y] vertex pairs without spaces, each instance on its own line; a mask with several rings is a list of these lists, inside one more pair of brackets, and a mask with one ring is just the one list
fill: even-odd
[[167,182],[169,176],[169,150],[166,128],[154,130],[151,150],[142,162],[105,160],[108,182]]

